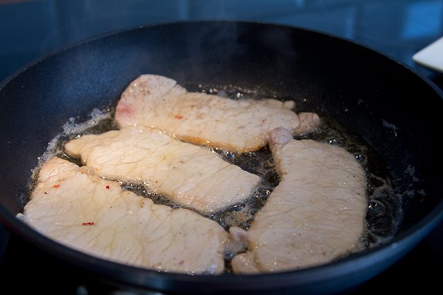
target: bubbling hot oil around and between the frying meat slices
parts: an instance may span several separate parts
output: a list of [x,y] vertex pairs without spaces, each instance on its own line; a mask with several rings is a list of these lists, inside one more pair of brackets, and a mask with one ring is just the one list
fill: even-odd
[[[247,89],[235,88],[233,86],[217,87],[217,88],[201,88],[201,91],[211,94],[218,94],[230,99],[242,99],[243,97],[257,98],[260,93],[257,91],[249,91]],[[277,98],[277,97],[273,97]],[[285,97],[284,99],[287,99]],[[282,100],[284,100],[282,99]],[[297,103],[297,102],[296,102]],[[112,117],[114,116],[114,108],[106,108],[104,111],[94,110],[90,119],[80,124],[75,123],[74,119],[69,120],[63,126],[63,132],[57,135],[48,145],[48,151],[41,157],[40,165],[53,155],[57,155],[75,164],[81,165],[78,159],[70,158],[64,153],[64,144],[75,137],[84,134],[98,134],[109,130],[116,129],[116,125]],[[310,110],[316,111],[316,110]],[[355,135],[338,124],[327,115],[319,114],[322,119],[320,128],[314,133],[296,137],[296,139],[311,139],[326,144],[336,144],[353,153],[356,160],[360,162],[366,171],[367,189],[366,196],[368,199],[368,211],[366,216],[367,233],[364,242],[367,247],[377,245],[379,242],[387,240],[395,235],[399,221],[401,220],[401,198],[392,187],[390,175],[386,164],[376,151],[370,148],[361,137]],[[232,226],[248,229],[255,216],[266,199],[269,198],[273,189],[278,185],[280,178],[275,171],[275,164],[271,151],[266,146],[258,151],[248,153],[231,153],[214,149],[227,162],[236,164],[242,169],[260,175],[262,181],[253,195],[239,204],[234,204],[224,211],[210,213],[207,217],[217,221],[222,227],[228,229]],[[30,191],[35,186],[35,175],[39,171],[35,169],[34,180],[31,182]],[[172,208],[180,207],[179,204],[147,189],[147,186],[139,182],[120,182],[123,189],[133,191],[138,195],[150,198],[156,204],[165,204]],[[226,257],[226,272],[231,272],[230,256]]]

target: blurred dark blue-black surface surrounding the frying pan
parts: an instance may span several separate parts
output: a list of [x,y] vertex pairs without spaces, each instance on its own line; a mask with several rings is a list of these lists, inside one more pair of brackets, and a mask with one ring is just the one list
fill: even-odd
[[[3,4],[2,4],[3,3]],[[177,20],[235,19],[311,28],[401,61],[443,89],[412,56],[443,35],[443,0],[0,1],[0,81],[54,48],[120,28]],[[347,294],[440,289],[443,223],[398,263]],[[1,289],[14,294],[113,291],[26,244],[0,225]],[[55,282],[55,283],[54,283]]]

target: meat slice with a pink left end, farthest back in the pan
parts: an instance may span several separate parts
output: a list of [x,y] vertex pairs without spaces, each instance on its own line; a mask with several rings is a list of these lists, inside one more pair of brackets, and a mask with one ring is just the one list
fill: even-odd
[[[120,128],[142,125],[161,129],[180,140],[226,151],[246,152],[266,145],[266,133],[284,126],[305,133],[320,123],[317,115],[304,124],[291,108],[293,102],[276,99],[228,99],[192,93],[168,77],[141,75],[124,93],[116,108]],[[310,122],[307,122],[310,120]]]

